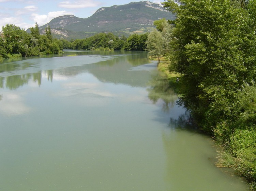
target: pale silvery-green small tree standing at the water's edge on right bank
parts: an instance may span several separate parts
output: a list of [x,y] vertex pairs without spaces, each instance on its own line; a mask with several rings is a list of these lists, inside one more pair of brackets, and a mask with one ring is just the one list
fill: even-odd
[[156,56],[158,63],[160,63],[160,57],[164,54],[164,39],[162,34],[154,29],[149,35],[146,42],[147,50],[151,56]]

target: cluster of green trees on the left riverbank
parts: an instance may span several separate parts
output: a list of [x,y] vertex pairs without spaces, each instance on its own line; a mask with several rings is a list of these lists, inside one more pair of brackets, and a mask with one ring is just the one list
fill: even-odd
[[62,52],[62,42],[52,38],[50,27],[45,28],[45,34],[40,35],[38,24],[30,28],[28,34],[14,24],[2,27],[0,38],[0,60],[13,56],[39,56]]

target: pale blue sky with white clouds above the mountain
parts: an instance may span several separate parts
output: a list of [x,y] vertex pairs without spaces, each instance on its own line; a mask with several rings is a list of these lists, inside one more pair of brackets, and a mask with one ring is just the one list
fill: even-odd
[[[6,24],[15,24],[25,30],[42,26],[63,15],[90,17],[101,7],[124,5],[141,0],[0,0],[0,30]],[[150,0],[153,3],[164,0]]]

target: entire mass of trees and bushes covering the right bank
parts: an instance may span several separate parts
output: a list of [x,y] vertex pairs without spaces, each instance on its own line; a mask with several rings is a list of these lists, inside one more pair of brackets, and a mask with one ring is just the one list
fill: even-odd
[[256,1],[166,0],[163,5],[177,16],[167,57],[169,70],[182,75],[179,103],[225,146],[232,167],[255,184]]

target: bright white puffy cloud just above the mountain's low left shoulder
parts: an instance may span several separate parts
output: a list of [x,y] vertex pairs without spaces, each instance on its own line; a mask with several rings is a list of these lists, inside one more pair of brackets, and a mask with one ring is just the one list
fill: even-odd
[[63,16],[63,15],[73,15],[73,13],[67,12],[67,11],[55,11],[55,12],[49,12],[47,15],[39,15],[39,14],[33,13],[31,16],[34,22],[37,22],[37,24],[41,26],[50,22],[52,19],[59,16]]

